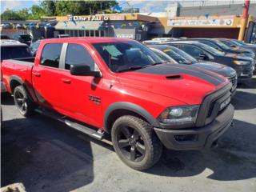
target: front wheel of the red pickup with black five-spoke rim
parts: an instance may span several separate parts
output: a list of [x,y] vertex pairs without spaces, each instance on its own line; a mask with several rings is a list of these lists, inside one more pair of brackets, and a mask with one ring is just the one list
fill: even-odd
[[111,130],[114,150],[134,170],[154,166],[162,155],[162,143],[150,124],[134,116],[118,118]]

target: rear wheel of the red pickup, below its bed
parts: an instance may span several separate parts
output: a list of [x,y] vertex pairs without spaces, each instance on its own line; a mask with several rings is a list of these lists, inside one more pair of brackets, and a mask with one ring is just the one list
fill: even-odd
[[34,102],[30,100],[23,86],[14,88],[14,102],[23,116],[29,117],[34,114]]

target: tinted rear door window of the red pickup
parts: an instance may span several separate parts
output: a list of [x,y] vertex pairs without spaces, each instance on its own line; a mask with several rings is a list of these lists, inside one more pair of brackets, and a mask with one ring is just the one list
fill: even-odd
[[46,44],[42,50],[40,64],[42,66],[50,66],[58,68],[59,59],[62,52],[62,43]]

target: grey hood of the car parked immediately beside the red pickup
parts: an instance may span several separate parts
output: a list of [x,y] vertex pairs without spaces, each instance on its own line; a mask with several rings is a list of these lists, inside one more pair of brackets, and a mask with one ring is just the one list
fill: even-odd
[[210,70],[224,77],[232,77],[236,73],[230,66],[225,66],[217,62],[195,62],[192,66],[196,66],[202,70]]

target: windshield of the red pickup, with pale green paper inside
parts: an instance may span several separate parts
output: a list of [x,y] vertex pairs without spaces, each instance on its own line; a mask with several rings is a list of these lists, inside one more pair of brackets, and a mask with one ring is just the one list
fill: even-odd
[[102,42],[92,45],[115,73],[162,63],[152,50],[139,42]]

